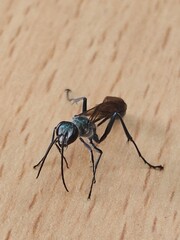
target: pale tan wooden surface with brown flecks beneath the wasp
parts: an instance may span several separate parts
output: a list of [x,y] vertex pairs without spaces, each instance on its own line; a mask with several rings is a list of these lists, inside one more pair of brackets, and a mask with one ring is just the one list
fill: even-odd
[[[179,24],[178,0],[1,0],[1,240],[180,239]],[[90,201],[79,140],[65,151],[69,193],[55,147],[36,180],[53,127],[80,111],[65,88],[89,107],[121,96],[130,133],[164,171],[116,123]]]

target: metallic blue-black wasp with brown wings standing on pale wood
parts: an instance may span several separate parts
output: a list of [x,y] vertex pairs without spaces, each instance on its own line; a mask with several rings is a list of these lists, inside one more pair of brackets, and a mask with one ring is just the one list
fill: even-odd
[[[119,120],[124,133],[127,137],[127,140],[132,142],[139,157],[143,160],[145,164],[147,164],[150,168],[162,170],[162,165],[152,165],[150,164],[141,154],[137,144],[133,140],[132,136],[130,135],[124,121],[123,116],[126,113],[127,105],[122,98],[119,97],[112,97],[107,96],[105,97],[104,101],[95,107],[87,110],[87,98],[86,97],[79,97],[79,98],[71,98],[70,97],[70,89],[66,89],[66,96],[68,101],[72,103],[77,103],[82,101],[82,112],[78,115],[75,115],[72,118],[72,121],[62,121],[58,123],[58,125],[54,128],[51,143],[46,150],[45,155],[43,158],[34,166],[34,168],[39,167],[39,171],[37,177],[42,170],[42,167],[45,163],[47,155],[49,154],[53,145],[55,145],[61,155],[61,177],[63,185],[67,192],[69,192],[67,185],[65,183],[64,178],[64,163],[68,168],[68,162],[64,156],[64,148],[73,143],[77,138],[84,144],[84,146],[89,150],[91,155],[91,162],[92,162],[92,172],[93,177],[91,181],[91,186],[88,194],[88,199],[91,198],[91,193],[93,189],[93,185],[96,183],[96,170],[103,154],[102,150],[96,146],[96,144],[101,143],[106,139],[108,134],[110,133],[115,120]],[[98,136],[96,133],[97,127],[101,124],[109,120],[104,133],[101,137]],[[87,141],[85,141],[85,139]],[[94,154],[93,150],[96,151],[99,156],[96,161],[94,161]]]

